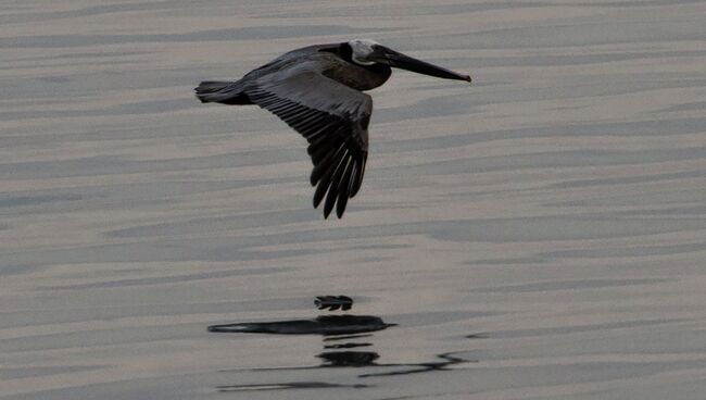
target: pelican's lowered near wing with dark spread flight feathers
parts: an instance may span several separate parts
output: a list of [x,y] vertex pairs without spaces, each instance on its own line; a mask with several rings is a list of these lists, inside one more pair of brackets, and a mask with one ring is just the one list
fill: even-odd
[[245,93],[308,141],[316,186],[314,207],[326,197],[324,216],[336,205],[340,218],[348,199],[361,189],[368,153],[373,100],[317,72],[272,74],[251,84]]

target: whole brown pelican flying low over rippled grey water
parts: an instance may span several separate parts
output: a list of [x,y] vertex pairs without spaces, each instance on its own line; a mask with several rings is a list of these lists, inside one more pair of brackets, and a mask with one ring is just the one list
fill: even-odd
[[[362,90],[384,84],[391,66],[444,79],[470,76],[413,59],[368,39],[314,45],[285,53],[237,82],[202,82],[201,102],[257,104],[308,141],[314,208],[340,218],[361,188],[368,157],[373,99]],[[328,195],[327,195],[328,192]]]

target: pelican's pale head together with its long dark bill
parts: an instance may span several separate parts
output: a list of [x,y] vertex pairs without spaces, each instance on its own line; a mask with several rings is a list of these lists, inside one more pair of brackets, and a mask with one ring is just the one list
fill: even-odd
[[470,76],[468,75],[458,74],[444,67],[414,59],[374,40],[353,39],[346,45],[351,48],[351,61],[358,65],[374,65],[379,63],[439,78],[470,82]]

